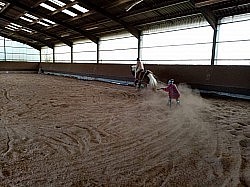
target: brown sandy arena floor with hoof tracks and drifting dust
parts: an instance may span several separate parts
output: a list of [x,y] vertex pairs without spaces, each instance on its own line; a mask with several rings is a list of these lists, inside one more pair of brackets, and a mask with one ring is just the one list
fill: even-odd
[[250,102],[0,74],[0,186],[250,186]]

